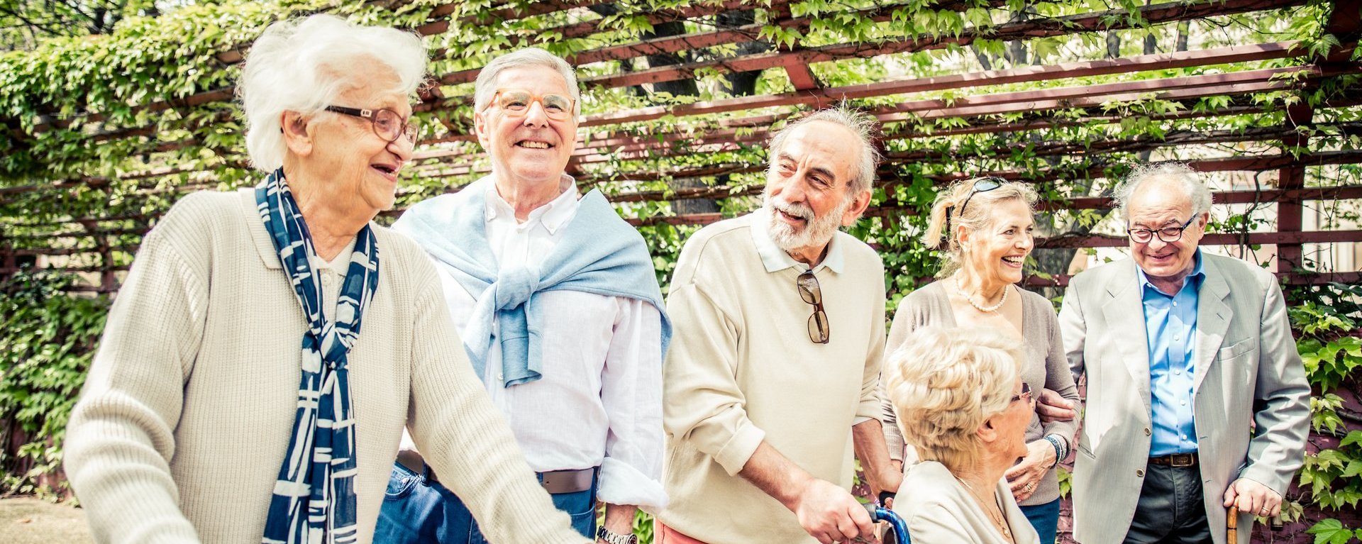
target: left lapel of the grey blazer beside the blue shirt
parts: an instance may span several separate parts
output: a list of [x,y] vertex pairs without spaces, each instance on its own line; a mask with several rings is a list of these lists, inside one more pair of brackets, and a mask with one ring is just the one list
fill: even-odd
[[1107,300],[1102,304],[1102,314],[1107,327],[1117,335],[1114,344],[1130,372],[1132,383],[1140,390],[1144,413],[1150,413],[1150,339],[1144,329],[1144,301],[1133,259],[1126,260],[1126,269],[1113,274],[1105,286]]

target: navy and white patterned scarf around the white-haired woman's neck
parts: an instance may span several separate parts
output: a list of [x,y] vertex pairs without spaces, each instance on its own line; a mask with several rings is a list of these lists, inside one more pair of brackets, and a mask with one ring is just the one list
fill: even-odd
[[316,255],[298,203],[278,169],[256,185],[260,220],[308,319],[302,335],[302,380],[293,439],[279,468],[266,519],[264,544],[345,544],[355,534],[354,412],[346,357],[360,335],[360,318],[379,286],[379,248],[365,225],[354,243],[335,316],[323,315]]

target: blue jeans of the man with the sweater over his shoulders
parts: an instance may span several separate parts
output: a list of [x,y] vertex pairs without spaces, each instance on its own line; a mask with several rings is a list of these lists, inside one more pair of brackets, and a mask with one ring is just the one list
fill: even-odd
[[[428,469],[429,470],[429,469]],[[556,494],[553,506],[568,513],[572,528],[595,540],[597,477],[591,488],[576,494]],[[534,515],[534,513],[523,513]],[[394,464],[388,489],[379,510],[373,544],[486,544],[486,537],[473,519],[473,513],[452,491],[437,481],[428,481],[400,464]]]

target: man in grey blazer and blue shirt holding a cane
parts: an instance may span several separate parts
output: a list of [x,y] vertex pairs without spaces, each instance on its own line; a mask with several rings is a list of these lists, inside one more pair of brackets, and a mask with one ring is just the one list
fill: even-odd
[[1185,165],[1136,169],[1117,203],[1130,259],[1076,275],[1060,309],[1088,383],[1073,537],[1226,544],[1226,509],[1244,528],[1276,515],[1303,458],[1310,387],[1286,303],[1271,273],[1197,250],[1211,192]]

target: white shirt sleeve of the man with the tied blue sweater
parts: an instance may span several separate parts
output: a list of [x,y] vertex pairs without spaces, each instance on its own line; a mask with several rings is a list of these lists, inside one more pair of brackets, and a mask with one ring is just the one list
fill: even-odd
[[610,504],[667,506],[662,489],[662,314],[616,297],[618,314],[601,372],[610,421],[597,496]]

